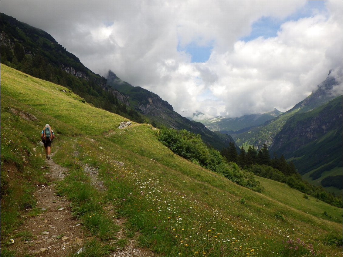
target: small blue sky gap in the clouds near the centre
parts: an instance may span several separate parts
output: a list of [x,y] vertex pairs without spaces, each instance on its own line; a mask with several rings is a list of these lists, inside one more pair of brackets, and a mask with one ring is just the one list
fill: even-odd
[[184,51],[191,55],[191,62],[206,62],[210,56],[213,49],[212,43],[207,46],[199,46],[196,42],[191,42],[186,47],[181,48],[178,46],[178,51]]

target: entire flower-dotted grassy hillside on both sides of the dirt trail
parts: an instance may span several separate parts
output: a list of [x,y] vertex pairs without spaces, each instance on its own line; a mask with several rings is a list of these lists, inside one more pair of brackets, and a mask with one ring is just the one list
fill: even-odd
[[[259,177],[265,190],[253,192],[175,155],[150,125],[132,122],[119,129],[127,119],[60,89],[1,64],[2,251],[21,213],[35,205],[23,196],[44,180],[43,157],[33,148],[40,149],[39,133],[49,123],[57,134],[55,162],[73,169],[75,145],[77,158],[97,167],[108,188],[97,205],[115,205],[128,231],[139,231],[140,244],[161,256],[342,256],[342,208]],[[75,179],[67,176],[61,185]],[[25,190],[12,190],[23,183]],[[73,203],[81,220],[91,200]],[[106,238],[94,235],[106,245]]]

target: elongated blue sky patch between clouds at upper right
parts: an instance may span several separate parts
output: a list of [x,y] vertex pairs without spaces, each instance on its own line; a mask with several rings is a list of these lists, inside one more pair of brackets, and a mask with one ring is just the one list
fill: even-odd
[[311,17],[317,11],[321,12],[325,9],[325,2],[326,1],[321,0],[307,1],[303,8],[300,8],[299,10],[282,20],[276,19],[274,17],[264,16],[252,24],[250,35],[240,38],[240,40],[247,42],[258,37],[276,37],[277,31],[280,29],[281,24],[287,21],[297,21],[301,18]]

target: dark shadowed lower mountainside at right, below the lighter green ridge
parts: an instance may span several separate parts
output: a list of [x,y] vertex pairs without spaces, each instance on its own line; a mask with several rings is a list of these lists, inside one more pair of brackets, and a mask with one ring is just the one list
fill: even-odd
[[[308,173],[308,181],[316,185],[323,179],[342,176],[342,103],[343,97],[339,96],[309,112],[296,113],[270,146],[278,155],[292,158],[298,172]],[[337,169],[341,173],[337,173]],[[341,177],[337,179],[342,182]],[[342,189],[342,185],[334,184]]]

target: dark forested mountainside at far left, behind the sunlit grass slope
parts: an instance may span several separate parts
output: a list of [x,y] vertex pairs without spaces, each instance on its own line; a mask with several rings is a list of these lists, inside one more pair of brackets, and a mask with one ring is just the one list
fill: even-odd
[[130,110],[124,95],[107,87],[106,78],[86,68],[51,35],[4,13],[0,25],[1,63],[66,86],[95,107],[143,121],[141,115]]

